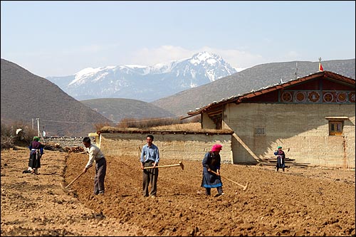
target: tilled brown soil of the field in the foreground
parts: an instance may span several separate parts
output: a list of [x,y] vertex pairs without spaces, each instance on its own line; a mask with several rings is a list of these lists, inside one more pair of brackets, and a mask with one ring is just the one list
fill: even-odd
[[60,185],[86,154],[46,151],[37,176],[22,174],[28,155],[1,152],[1,236],[355,236],[355,169],[222,164],[225,195],[208,197],[201,162],[182,161],[184,170],[159,169],[152,199],[141,195],[138,157],[107,157],[105,194],[94,196],[93,168],[68,192]]

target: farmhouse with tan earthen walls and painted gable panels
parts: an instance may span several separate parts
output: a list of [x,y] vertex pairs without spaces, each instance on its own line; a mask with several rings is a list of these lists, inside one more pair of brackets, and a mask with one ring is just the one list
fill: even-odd
[[281,145],[312,166],[355,168],[355,79],[321,71],[287,83],[212,102],[204,129],[228,129],[234,164],[253,164]]

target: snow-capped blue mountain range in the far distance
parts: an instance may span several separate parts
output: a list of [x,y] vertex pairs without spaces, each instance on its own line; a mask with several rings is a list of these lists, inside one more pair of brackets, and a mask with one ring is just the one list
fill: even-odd
[[77,100],[127,98],[152,102],[236,72],[220,56],[201,52],[153,66],[85,68],[75,75],[46,79]]

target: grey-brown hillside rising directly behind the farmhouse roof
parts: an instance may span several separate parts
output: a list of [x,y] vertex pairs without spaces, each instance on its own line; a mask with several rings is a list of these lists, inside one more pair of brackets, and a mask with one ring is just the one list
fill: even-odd
[[[324,70],[332,71],[355,79],[355,58],[348,60],[322,61]],[[296,77],[318,72],[319,62],[292,61],[285,63],[266,63],[242,70],[197,88],[155,100],[152,105],[162,107],[175,115],[187,115],[189,110],[209,105],[224,98],[249,93]],[[296,75],[295,75],[296,74]]]

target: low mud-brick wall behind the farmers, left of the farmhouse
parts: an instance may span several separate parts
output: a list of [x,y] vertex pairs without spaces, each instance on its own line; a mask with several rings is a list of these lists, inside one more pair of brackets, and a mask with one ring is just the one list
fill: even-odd
[[[145,133],[101,133],[100,149],[106,156],[120,158],[131,155],[140,161],[140,150],[146,144]],[[160,159],[202,160],[204,154],[218,143],[223,146],[220,152],[221,163],[232,163],[231,135],[214,134],[153,134],[153,144],[159,148]]]

